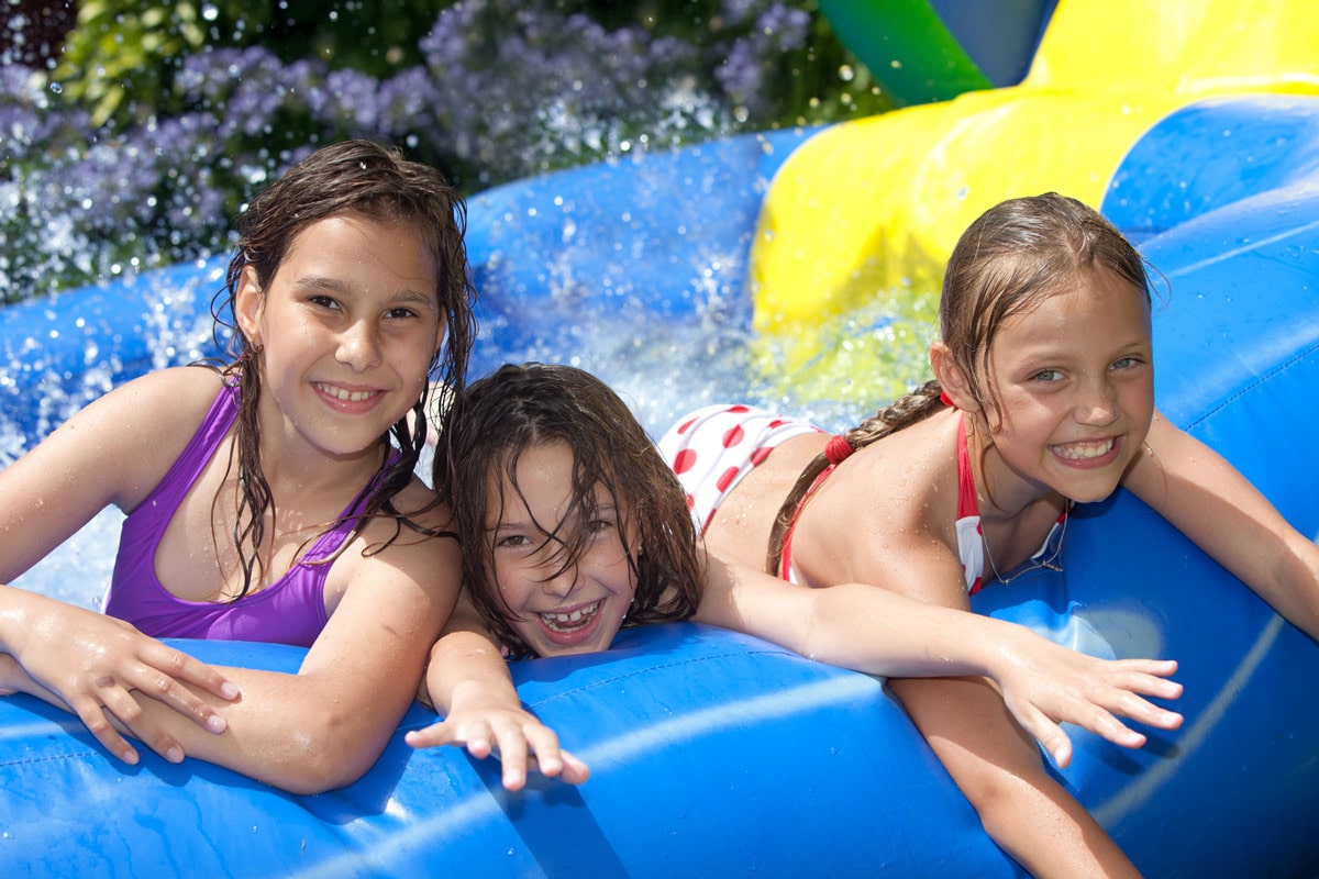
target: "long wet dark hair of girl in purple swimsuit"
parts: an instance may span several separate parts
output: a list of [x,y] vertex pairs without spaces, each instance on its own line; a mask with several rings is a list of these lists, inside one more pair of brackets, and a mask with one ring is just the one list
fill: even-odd
[[[431,357],[431,378],[441,387],[448,389],[446,393],[450,394],[460,393],[467,378],[467,361],[476,335],[476,291],[470,281],[463,244],[467,206],[435,169],[405,161],[394,148],[363,140],[346,141],[317,150],[253,198],[237,221],[237,249],[230,260],[224,289],[211,304],[216,328],[232,329],[227,345],[232,360],[222,372],[226,381],[239,386],[233,441],[239,506],[233,522],[233,543],[243,571],[243,586],[237,597],[260,582],[264,571],[260,551],[265,540],[265,515],[274,510],[270,486],[261,472],[261,435],[257,424],[257,403],[261,398],[260,351],[233,320],[239,283],[243,270],[251,268],[257,283],[266,289],[294,239],[303,229],[318,220],[343,213],[377,224],[406,225],[421,236],[435,261],[435,297],[446,322],[445,344]],[[393,507],[392,498],[412,481],[426,445],[427,398],[429,393],[423,391],[413,407],[413,416],[400,419],[389,435],[381,438],[381,467],[371,482],[372,492],[361,514],[355,517],[353,535],[371,517],[381,514],[393,517],[398,525],[415,527]],[[398,448],[398,457],[393,464],[384,453],[390,436]],[[327,527],[334,525],[336,523]],[[394,534],[397,536],[398,531]],[[393,538],[384,546],[392,542]],[[344,546],[347,543],[346,540]]]

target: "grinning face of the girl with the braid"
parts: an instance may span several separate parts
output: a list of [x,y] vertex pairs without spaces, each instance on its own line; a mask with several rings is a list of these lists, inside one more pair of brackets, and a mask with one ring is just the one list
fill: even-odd
[[[991,496],[1054,490],[1074,501],[1112,494],[1154,414],[1150,310],[1142,290],[1086,270],[1028,312],[1004,320],[989,358],[985,416]],[[1012,477],[1020,480],[1013,482]]]

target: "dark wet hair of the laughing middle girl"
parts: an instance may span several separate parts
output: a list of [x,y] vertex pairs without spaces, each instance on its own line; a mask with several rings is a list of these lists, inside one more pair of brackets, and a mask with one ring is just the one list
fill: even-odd
[[[448,494],[463,546],[463,573],[472,602],[512,656],[530,655],[513,631],[513,613],[495,582],[488,522],[500,484],[517,484],[522,452],[565,443],[572,449],[572,501],[559,522],[541,523],[546,540],[561,544],[561,571],[578,564],[588,535],[565,534],[567,522],[596,518],[596,486],[620,513],[619,531],[637,581],[624,626],[687,619],[700,604],[704,552],[686,496],[645,428],[623,399],[595,376],[572,366],[505,365],[472,382],[462,406],[451,407],[442,435],[447,453],[435,456],[434,484]],[[628,535],[636,530],[637,543]]]

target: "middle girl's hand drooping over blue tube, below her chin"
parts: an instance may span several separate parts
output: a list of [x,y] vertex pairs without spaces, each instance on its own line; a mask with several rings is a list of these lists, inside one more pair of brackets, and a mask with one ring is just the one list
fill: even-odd
[[409,731],[405,741],[413,747],[466,746],[480,760],[493,755],[504,764],[501,775],[509,791],[522,789],[529,766],[568,784],[582,784],[591,776],[586,763],[559,747],[554,730],[520,708],[452,712],[438,723]]

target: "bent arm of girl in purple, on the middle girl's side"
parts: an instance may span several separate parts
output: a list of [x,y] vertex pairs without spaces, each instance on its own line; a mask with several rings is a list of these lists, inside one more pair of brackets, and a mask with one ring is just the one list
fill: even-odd
[[[434,523],[431,523],[434,525]],[[297,675],[231,668],[240,700],[218,705],[223,735],[204,735],[148,700],[142,708],[190,756],[294,793],[319,793],[375,764],[417,696],[426,652],[458,596],[458,544],[404,538],[361,557],[361,535],[335,563],[350,586]]]

